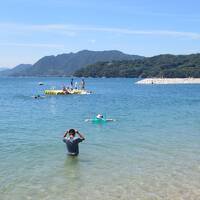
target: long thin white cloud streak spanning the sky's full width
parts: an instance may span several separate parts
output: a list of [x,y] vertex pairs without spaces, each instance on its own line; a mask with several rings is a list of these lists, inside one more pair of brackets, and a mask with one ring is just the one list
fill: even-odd
[[190,39],[200,39],[198,32],[185,32],[174,30],[135,30],[113,27],[97,27],[87,25],[74,24],[42,24],[42,25],[25,25],[25,24],[0,24],[1,30],[9,31],[35,31],[35,32],[53,32],[56,34],[67,35],[70,37],[76,36],[79,32],[104,32],[114,34],[128,35],[154,35],[165,37],[180,37]]

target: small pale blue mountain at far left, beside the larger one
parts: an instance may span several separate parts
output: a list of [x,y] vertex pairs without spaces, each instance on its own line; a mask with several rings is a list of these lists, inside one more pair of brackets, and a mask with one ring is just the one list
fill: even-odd
[[32,65],[30,64],[20,64],[12,69],[0,71],[0,76],[20,76],[22,72],[24,73],[26,70],[30,69],[31,67]]

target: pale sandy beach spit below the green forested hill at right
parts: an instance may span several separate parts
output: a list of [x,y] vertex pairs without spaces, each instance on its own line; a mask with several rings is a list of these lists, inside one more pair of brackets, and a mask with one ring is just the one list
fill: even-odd
[[200,78],[145,78],[136,84],[200,84]]

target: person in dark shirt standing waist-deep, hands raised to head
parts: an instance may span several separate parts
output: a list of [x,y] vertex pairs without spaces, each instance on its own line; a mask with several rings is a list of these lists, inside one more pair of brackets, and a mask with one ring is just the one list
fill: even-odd
[[[75,137],[75,135],[79,137]],[[69,135],[67,137],[67,135]],[[79,146],[78,144],[85,140],[85,137],[79,133],[77,130],[70,129],[63,136],[63,142],[66,143],[66,147],[68,150],[68,155],[70,156],[78,156],[79,154]]]

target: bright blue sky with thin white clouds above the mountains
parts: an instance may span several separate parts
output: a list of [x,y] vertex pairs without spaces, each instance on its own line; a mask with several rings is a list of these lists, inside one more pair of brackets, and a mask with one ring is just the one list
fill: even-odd
[[88,50],[200,52],[199,0],[0,0],[0,67]]

